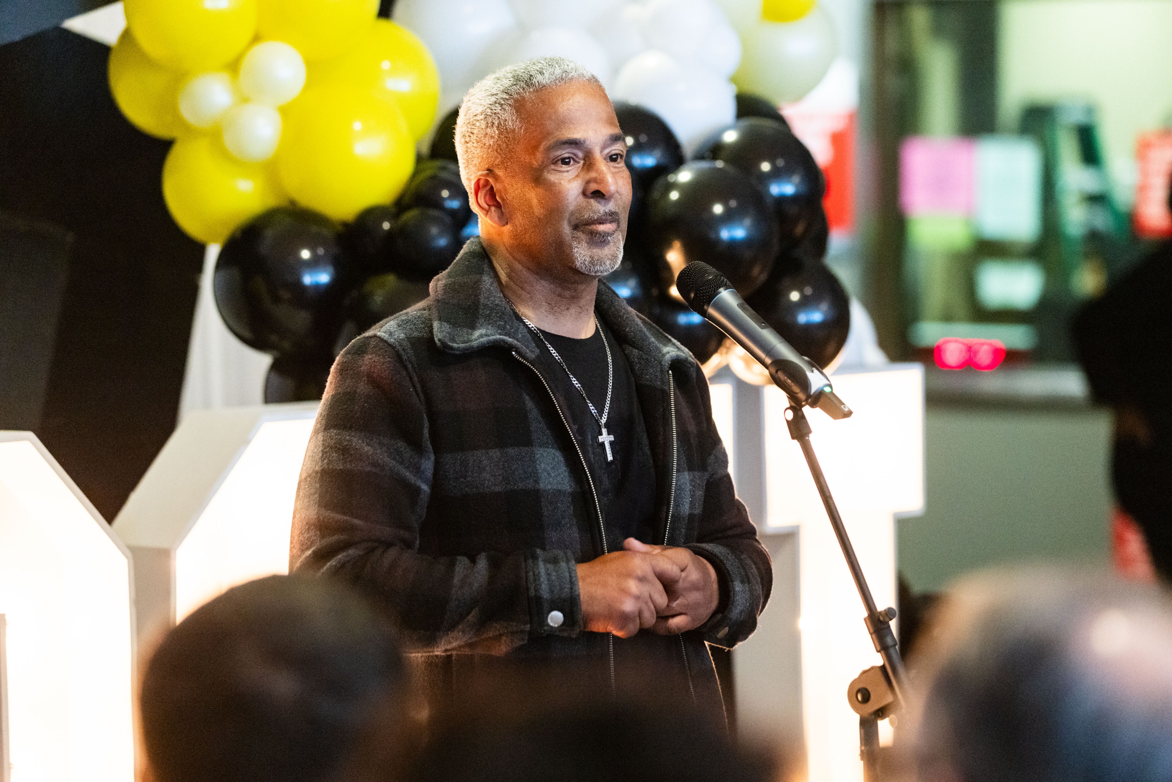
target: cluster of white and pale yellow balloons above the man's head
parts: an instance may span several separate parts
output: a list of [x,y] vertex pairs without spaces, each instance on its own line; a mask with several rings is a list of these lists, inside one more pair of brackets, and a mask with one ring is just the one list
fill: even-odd
[[655,113],[688,150],[732,122],[734,82],[774,104],[792,101],[834,49],[813,0],[398,0],[394,18],[435,55],[444,113],[493,70],[559,55],[593,72],[612,98]]

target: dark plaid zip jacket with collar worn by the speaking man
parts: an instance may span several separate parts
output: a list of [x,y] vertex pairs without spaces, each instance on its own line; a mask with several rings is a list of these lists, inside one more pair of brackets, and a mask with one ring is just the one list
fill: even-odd
[[450,699],[471,684],[461,672],[490,655],[584,671],[593,660],[614,686],[615,657],[621,668],[638,648],[697,703],[720,708],[706,641],[748,638],[769,598],[769,555],[734,495],[700,366],[607,285],[595,308],[627,356],[647,426],[660,519],[647,543],[708,559],[721,605],[679,637],[582,630],[575,564],[605,553],[606,519],[570,431],[565,383],[538,369],[538,345],[473,238],[429,299],[339,355],[289,555],[291,569],[342,577],[389,605],[432,696],[447,688]]

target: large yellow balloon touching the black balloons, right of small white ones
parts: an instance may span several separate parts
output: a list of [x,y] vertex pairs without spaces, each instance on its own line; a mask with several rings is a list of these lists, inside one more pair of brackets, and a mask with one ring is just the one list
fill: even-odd
[[288,104],[277,170],[293,200],[349,220],[398,196],[415,170],[415,143],[397,106],[331,83]]

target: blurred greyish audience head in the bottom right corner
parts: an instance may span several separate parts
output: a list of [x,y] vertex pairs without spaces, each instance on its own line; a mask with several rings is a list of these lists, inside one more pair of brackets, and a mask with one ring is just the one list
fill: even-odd
[[992,571],[946,596],[924,640],[920,782],[1172,778],[1172,611],[1154,587]]

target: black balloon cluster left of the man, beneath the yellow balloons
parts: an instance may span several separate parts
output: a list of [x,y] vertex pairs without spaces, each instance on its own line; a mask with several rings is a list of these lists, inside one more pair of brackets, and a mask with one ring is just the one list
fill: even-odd
[[266,402],[320,399],[334,356],[380,320],[428,295],[475,231],[459,171],[424,161],[394,204],[349,224],[275,206],[220,249],[212,290],[224,322],[274,358]]

